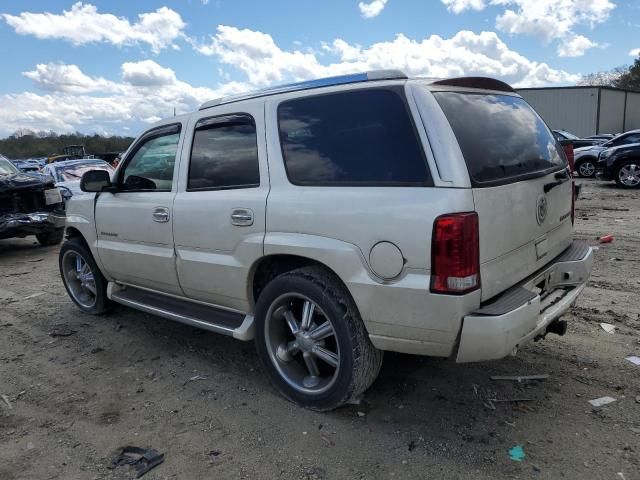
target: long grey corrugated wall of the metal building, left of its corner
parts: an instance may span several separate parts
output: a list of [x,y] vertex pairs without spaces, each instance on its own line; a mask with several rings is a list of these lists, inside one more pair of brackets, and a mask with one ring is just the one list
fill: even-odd
[[519,90],[518,93],[551,128],[567,130],[583,137],[596,133],[597,88],[541,88]]

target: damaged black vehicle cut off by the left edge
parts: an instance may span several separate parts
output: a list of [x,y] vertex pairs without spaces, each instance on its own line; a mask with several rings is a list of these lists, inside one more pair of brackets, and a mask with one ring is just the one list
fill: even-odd
[[64,236],[64,202],[51,179],[25,175],[0,158],[0,239],[35,235],[41,245]]

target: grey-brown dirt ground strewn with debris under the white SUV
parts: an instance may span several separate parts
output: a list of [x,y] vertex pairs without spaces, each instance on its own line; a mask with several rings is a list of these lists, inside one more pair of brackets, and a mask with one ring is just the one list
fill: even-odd
[[[615,241],[567,335],[485,364],[387,354],[363,402],[329,414],[278,396],[252,343],[125,308],[83,315],[57,247],[0,241],[0,479],[134,478],[108,468],[126,445],[165,453],[145,480],[640,479],[640,366],[625,360],[640,355],[640,191],[580,183],[576,236]],[[549,378],[489,378],[532,374]],[[588,403],[603,396],[616,401]]]

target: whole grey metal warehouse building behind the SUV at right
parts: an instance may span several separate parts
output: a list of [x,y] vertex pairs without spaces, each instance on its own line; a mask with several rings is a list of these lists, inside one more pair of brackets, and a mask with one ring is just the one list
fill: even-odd
[[520,88],[553,129],[579,137],[640,128],[640,92],[613,87]]

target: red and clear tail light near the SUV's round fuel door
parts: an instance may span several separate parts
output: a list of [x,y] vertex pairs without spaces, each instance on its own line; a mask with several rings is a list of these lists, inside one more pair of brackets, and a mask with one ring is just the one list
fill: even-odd
[[436,218],[431,240],[431,291],[461,295],[480,288],[478,214]]

